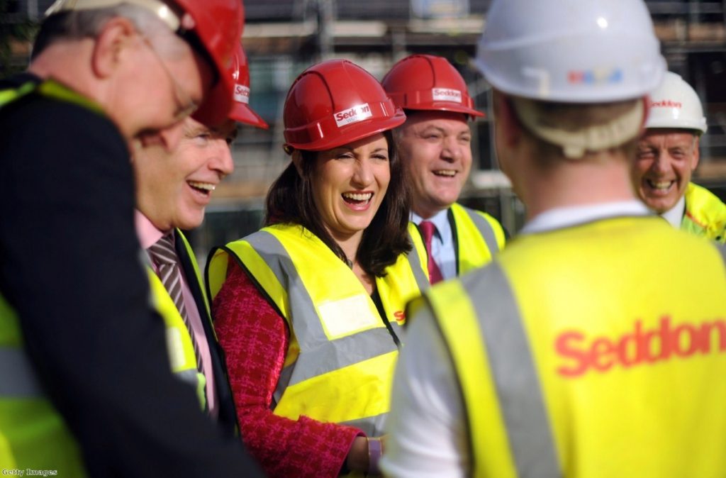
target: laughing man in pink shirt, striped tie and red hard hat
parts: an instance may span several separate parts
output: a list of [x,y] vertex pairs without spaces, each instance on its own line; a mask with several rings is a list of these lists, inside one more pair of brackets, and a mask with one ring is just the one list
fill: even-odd
[[[168,331],[171,368],[195,389],[201,408],[232,434],[237,428],[237,415],[227,368],[213,331],[195,254],[181,230],[192,230],[202,224],[214,190],[224,177],[232,174],[230,145],[237,136],[237,122],[268,128],[249,105],[250,73],[241,45],[234,54],[233,65],[234,103],[224,122],[207,126],[186,118],[160,133],[181,135],[173,150],[166,150],[165,141],[161,141],[140,148],[132,160],[136,176],[136,233],[149,256],[147,269],[155,304]],[[174,276],[179,278],[178,283],[169,280],[169,261],[178,267],[179,275]]]

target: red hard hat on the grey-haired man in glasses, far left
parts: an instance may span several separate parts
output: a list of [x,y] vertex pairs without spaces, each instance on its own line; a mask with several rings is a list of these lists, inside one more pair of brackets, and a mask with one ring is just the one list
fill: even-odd
[[192,31],[206,49],[217,75],[216,84],[192,116],[200,123],[219,124],[232,108],[232,55],[240,44],[245,23],[242,1],[174,0],[174,3],[194,19]]

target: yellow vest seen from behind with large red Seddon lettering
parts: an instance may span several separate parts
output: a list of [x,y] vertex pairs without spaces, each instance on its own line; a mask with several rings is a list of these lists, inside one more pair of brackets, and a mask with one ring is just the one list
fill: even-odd
[[726,251],[659,218],[517,238],[427,295],[474,477],[722,477]]

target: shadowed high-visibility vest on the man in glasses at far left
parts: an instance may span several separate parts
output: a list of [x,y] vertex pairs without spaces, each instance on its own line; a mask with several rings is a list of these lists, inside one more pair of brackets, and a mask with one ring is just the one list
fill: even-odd
[[[28,94],[101,112],[94,102],[54,81],[31,81],[17,89],[2,90],[0,108]],[[25,354],[17,312],[1,294],[0,469],[57,470],[58,476],[86,476],[76,439],[48,399]]]

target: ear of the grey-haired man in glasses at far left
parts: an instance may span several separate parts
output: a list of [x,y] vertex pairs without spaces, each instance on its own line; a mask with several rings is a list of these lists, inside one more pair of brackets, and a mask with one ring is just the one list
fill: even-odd
[[136,28],[127,18],[115,17],[108,20],[96,37],[91,68],[99,78],[111,76],[121,62],[123,54],[136,39]]

